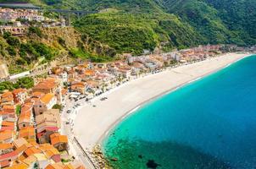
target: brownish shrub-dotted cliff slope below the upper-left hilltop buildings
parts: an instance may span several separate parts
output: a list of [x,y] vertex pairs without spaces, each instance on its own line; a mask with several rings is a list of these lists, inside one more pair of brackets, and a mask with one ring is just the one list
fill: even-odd
[[0,35],[0,59],[10,74],[33,68],[58,57],[111,59],[115,50],[72,27],[28,28],[22,36]]

